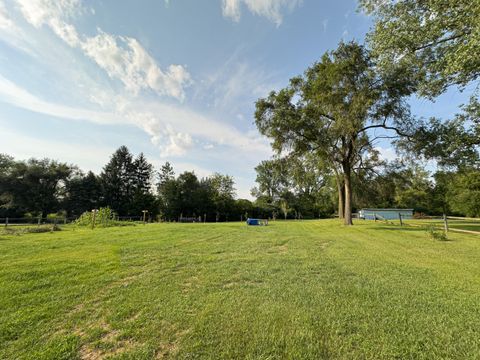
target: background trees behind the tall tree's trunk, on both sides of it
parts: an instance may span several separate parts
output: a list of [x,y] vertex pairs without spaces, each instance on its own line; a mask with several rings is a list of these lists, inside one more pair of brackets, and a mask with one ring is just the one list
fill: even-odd
[[[257,167],[255,203],[281,218],[330,217],[339,212],[335,173],[310,158],[281,157]],[[373,164],[371,164],[373,165]],[[439,169],[430,174],[410,159],[377,161],[352,173],[352,210],[408,208],[417,215],[480,217],[480,172],[476,168]]]

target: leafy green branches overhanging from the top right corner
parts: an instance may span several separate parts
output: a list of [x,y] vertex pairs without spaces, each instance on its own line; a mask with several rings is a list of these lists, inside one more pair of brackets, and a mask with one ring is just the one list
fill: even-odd
[[418,81],[421,95],[435,97],[450,85],[480,76],[478,0],[360,0],[374,16],[368,35],[383,69],[400,67]]

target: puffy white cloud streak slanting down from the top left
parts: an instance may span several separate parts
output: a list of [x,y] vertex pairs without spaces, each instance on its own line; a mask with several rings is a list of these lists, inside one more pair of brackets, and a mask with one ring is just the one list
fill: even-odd
[[60,39],[71,47],[80,48],[110,78],[120,80],[133,94],[153,90],[158,95],[184,99],[184,88],[191,84],[191,77],[182,65],[160,69],[142,45],[131,37],[108,34],[101,29],[93,37],[79,35],[76,28],[67,22],[84,12],[79,0],[17,2],[30,24],[36,28],[47,25]]

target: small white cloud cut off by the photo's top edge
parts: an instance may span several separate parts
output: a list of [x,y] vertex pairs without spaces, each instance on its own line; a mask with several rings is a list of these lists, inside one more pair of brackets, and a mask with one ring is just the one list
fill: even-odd
[[223,15],[234,21],[241,17],[241,4],[244,4],[255,15],[264,16],[277,26],[283,21],[282,13],[292,11],[302,0],[222,0]]

